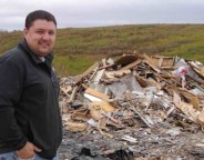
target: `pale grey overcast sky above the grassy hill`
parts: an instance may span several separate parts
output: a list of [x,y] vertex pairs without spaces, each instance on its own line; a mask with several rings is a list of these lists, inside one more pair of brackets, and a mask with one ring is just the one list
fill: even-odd
[[39,9],[52,12],[58,28],[204,23],[204,0],[0,0],[0,29],[22,30]]

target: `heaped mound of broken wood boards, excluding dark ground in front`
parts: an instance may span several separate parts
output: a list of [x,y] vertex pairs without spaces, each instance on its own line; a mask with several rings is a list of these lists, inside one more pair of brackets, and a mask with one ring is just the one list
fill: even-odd
[[[60,83],[63,124],[71,132],[98,131],[113,139],[126,128],[161,128],[175,136],[204,126],[204,66],[198,61],[123,54]],[[137,142],[125,133],[121,139]]]

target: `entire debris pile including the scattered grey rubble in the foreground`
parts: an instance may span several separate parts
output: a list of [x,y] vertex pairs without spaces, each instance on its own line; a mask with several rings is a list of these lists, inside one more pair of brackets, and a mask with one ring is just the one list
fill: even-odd
[[204,66],[198,61],[147,54],[102,59],[61,79],[60,104],[64,159],[80,159],[84,148],[94,159],[119,152],[145,160],[204,157]]

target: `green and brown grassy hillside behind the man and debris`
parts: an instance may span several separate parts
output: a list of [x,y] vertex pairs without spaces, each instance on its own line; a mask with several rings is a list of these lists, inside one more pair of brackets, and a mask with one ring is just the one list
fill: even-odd
[[[122,53],[178,56],[204,63],[203,24],[132,24],[59,29],[54,68],[60,77],[79,74],[102,58]],[[21,31],[0,32],[0,54]]]

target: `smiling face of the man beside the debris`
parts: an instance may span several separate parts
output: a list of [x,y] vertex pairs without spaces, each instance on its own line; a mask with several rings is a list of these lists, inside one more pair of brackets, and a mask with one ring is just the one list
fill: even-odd
[[57,27],[52,21],[38,19],[29,29],[24,29],[24,38],[31,51],[44,57],[54,48]]

